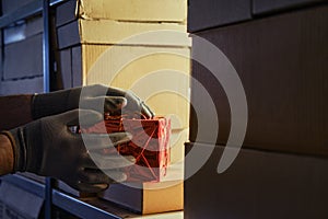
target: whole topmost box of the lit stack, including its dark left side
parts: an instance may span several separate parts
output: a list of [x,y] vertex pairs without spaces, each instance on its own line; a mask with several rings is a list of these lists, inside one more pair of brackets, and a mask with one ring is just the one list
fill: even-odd
[[84,20],[186,23],[185,0],[68,0],[56,8],[56,25]]

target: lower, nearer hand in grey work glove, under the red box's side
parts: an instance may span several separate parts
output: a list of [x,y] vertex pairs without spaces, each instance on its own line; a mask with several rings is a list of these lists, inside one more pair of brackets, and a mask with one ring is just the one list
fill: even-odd
[[[80,119],[80,124],[79,114],[80,118],[83,118]],[[96,164],[102,165],[116,181],[125,181],[127,175],[120,172],[119,168],[133,164],[133,157],[120,157],[115,152],[104,155],[96,151],[109,148],[110,141],[112,146],[129,141],[131,139],[129,134],[83,134],[82,139],[82,135],[74,134],[69,128],[78,125],[90,126],[101,120],[103,115],[98,112],[74,110],[43,117],[3,132],[11,139],[13,146],[14,171],[54,176],[75,189],[90,193],[105,189],[114,182]],[[89,153],[91,150],[93,154],[97,154],[97,160],[91,159]]]

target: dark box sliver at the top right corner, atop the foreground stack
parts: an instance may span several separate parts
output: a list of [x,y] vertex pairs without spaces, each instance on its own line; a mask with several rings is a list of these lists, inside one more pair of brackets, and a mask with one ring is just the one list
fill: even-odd
[[293,8],[308,7],[318,2],[325,2],[325,0],[254,0],[253,13],[262,14],[269,12],[279,12]]

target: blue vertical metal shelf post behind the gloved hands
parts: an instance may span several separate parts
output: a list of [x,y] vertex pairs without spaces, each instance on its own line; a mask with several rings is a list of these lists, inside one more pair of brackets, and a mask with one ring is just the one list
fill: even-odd
[[[50,91],[50,7],[49,0],[43,1],[43,19],[44,19],[44,35],[43,35],[43,67],[44,67],[44,92]],[[45,188],[45,218],[51,219],[52,210],[52,180],[50,177],[46,178]]]

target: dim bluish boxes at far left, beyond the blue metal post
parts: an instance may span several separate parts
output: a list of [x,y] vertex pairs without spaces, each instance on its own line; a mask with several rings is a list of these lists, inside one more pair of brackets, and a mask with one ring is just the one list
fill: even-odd
[[[31,2],[3,0],[2,14]],[[2,30],[0,94],[43,91],[42,32],[42,16],[27,18]]]

